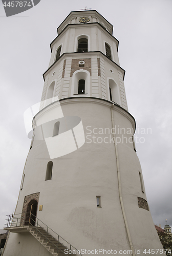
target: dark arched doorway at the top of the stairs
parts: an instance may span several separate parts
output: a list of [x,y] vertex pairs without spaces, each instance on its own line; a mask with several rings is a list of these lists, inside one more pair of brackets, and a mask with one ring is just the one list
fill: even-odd
[[28,225],[35,226],[36,214],[37,214],[37,201],[33,199],[28,203],[25,226],[28,226]]

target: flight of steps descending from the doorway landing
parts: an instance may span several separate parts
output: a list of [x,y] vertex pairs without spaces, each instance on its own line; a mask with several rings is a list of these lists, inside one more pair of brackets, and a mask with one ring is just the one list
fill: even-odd
[[[28,227],[29,232],[32,236],[42,244],[52,255],[54,256],[66,256],[65,249],[68,249],[58,240],[56,240],[51,234],[49,234],[44,228],[42,227]],[[75,254],[70,254],[75,255]]]

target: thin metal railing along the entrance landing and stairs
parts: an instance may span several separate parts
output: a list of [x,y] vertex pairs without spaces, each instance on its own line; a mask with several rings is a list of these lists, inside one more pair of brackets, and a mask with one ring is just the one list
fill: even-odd
[[[55,248],[53,248],[53,249],[57,249],[57,253],[60,251],[65,255],[65,252],[59,248],[59,245],[62,245],[62,246],[64,246],[64,249],[65,249],[65,247],[67,249],[70,247],[70,249],[68,249],[68,252],[71,251],[71,253],[70,253],[71,255],[75,255],[74,253],[72,253],[72,251],[76,251],[77,255],[82,256],[82,254],[80,253],[79,250],[77,250],[68,241],[66,241],[61,236],[59,236],[59,234],[57,234],[55,231],[53,231],[49,226],[47,226],[44,222],[39,220],[31,212],[26,212],[25,216],[26,217],[24,220],[24,224],[21,225],[23,222],[22,214],[7,215],[8,219],[6,219],[6,221],[7,221],[7,224],[5,224],[5,225],[7,225],[6,227],[12,228],[12,227],[31,226],[31,227],[35,228],[35,230],[39,234],[41,234],[41,237],[43,238],[43,240],[45,240],[44,243],[46,243],[46,246],[54,246]],[[53,241],[50,239],[50,237],[53,239]],[[50,244],[48,245],[48,243],[50,243]]]

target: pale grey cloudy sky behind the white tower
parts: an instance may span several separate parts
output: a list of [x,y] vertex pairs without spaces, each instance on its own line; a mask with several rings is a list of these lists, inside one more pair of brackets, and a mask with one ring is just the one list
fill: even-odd
[[[40,101],[56,28],[87,5],[114,26],[125,73],[129,112],[135,117],[147,201],[155,224],[171,219],[171,0],[41,0],[6,17],[0,2],[1,153],[0,228],[15,210],[30,140],[23,114]],[[148,134],[142,129],[150,128]],[[140,129],[140,131],[139,131]],[[139,140],[139,139],[138,139]]]

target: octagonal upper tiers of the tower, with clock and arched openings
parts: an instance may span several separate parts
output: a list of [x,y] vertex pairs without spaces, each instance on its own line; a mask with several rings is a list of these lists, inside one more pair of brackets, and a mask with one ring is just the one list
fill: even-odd
[[[96,11],[80,11],[71,12],[57,32],[58,36],[50,44],[52,55],[49,69],[44,73],[41,100],[46,99],[50,82],[57,79],[53,95],[59,99],[83,94],[83,97],[112,99],[127,110],[125,71],[119,66],[119,42],[112,35],[113,26]],[[79,80],[85,80],[84,93],[78,93]]]

